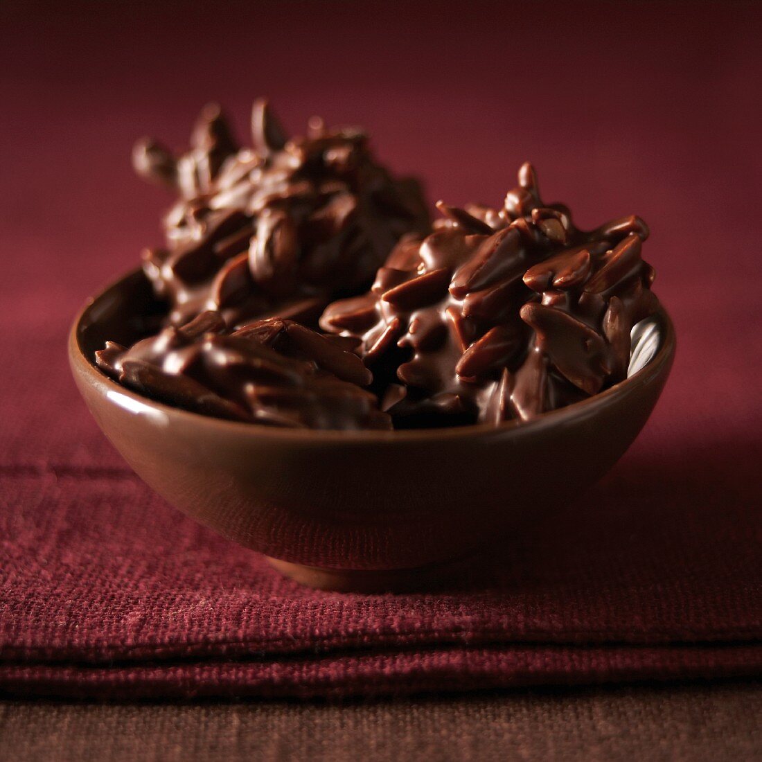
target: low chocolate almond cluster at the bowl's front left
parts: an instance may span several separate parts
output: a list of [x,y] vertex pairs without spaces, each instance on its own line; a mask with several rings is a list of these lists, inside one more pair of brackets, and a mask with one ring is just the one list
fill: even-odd
[[322,336],[290,320],[264,319],[229,331],[219,312],[126,349],[95,353],[101,370],[168,405],[270,426],[390,429],[352,339]]

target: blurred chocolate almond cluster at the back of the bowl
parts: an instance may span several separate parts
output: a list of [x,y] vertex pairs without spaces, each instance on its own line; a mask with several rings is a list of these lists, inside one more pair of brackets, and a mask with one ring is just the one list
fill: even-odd
[[239,148],[212,104],[183,155],[148,139],[135,146],[138,174],[180,197],[165,217],[166,247],[143,253],[173,325],[205,309],[228,325],[316,319],[332,297],[367,287],[401,235],[427,229],[418,183],[392,178],[360,130],[313,120],[290,138],[257,101],[251,133],[253,149]]

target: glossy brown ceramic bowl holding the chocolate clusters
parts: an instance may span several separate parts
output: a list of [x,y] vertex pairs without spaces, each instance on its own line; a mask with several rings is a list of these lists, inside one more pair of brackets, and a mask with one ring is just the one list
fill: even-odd
[[134,272],[77,316],[69,360],[95,420],[175,507],[287,575],[337,590],[425,587],[578,495],[638,435],[675,351],[662,311],[633,331],[628,379],[529,423],[293,431],[168,407],[104,376],[94,351],[135,341],[159,309]]

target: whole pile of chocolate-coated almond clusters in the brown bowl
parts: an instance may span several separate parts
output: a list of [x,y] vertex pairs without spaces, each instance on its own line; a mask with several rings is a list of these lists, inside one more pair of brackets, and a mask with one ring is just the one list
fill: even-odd
[[360,130],[287,136],[255,103],[239,148],[208,106],[181,156],[133,153],[171,187],[143,254],[165,328],[96,353],[158,401],[235,421],[392,429],[527,421],[626,377],[658,309],[636,216],[592,231],[525,164],[499,209],[437,203],[376,163]]

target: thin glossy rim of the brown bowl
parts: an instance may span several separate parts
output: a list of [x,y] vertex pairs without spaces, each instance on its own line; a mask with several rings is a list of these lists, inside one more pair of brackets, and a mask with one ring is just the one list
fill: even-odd
[[281,428],[275,426],[266,426],[264,424],[247,423],[245,421],[226,421],[224,418],[214,418],[210,415],[202,415],[190,410],[184,410],[183,408],[176,408],[172,405],[165,405],[163,402],[157,402],[150,397],[138,394],[132,389],[128,389],[126,386],[122,386],[120,383],[114,381],[102,370],[98,368],[94,360],[91,360],[83,351],[82,346],[79,343],[79,335],[81,332],[81,325],[88,312],[103,299],[110,291],[117,290],[123,286],[123,283],[130,278],[139,277],[142,275],[142,269],[136,268],[129,271],[126,274],[117,277],[116,279],[107,283],[105,287],[102,287],[95,293],[94,296],[89,297],[81,309],[78,310],[75,315],[75,319],[72,322],[72,327],[69,330],[69,362],[72,365],[74,372],[83,373],[88,378],[88,382],[91,386],[101,386],[106,391],[110,390],[118,392],[121,395],[126,396],[133,402],[147,406],[149,408],[161,411],[168,417],[178,418],[180,420],[186,420],[200,427],[213,427],[218,431],[220,429],[229,429],[231,433],[236,434],[249,434],[252,437],[265,437],[277,440],[294,440],[301,442],[320,442],[320,441],[337,441],[342,442],[402,442],[402,441],[440,441],[443,439],[468,439],[472,437],[479,437],[485,435],[496,435],[503,432],[528,432],[536,427],[545,427],[549,424],[561,424],[563,421],[568,421],[571,418],[577,418],[579,415],[584,415],[585,412],[590,411],[591,408],[595,408],[607,399],[613,396],[621,395],[629,390],[630,387],[639,385],[640,383],[648,383],[648,381],[655,376],[658,376],[664,365],[669,365],[674,357],[675,349],[677,347],[677,339],[674,331],[674,324],[664,306],[660,304],[658,311],[655,315],[658,316],[661,322],[662,335],[661,341],[655,355],[648,360],[645,365],[633,373],[632,376],[628,376],[623,381],[610,386],[608,389],[604,389],[603,392],[598,392],[587,399],[583,399],[580,402],[573,402],[571,405],[566,405],[564,408],[557,408],[555,410],[546,411],[540,413],[530,421],[519,421],[517,419],[511,421],[504,421],[501,424],[469,424],[467,426],[452,426],[430,429],[400,429],[392,431],[378,431],[374,429],[360,429],[353,431],[338,431],[331,429],[293,429],[293,428]]

